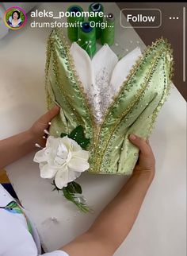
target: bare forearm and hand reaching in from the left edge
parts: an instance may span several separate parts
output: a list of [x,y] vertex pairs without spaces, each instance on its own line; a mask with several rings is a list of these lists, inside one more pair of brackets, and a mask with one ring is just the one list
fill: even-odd
[[35,149],[35,143],[44,146],[44,130],[48,129],[48,122],[58,112],[59,107],[55,106],[42,115],[29,130],[0,141],[0,169],[31,152]]

